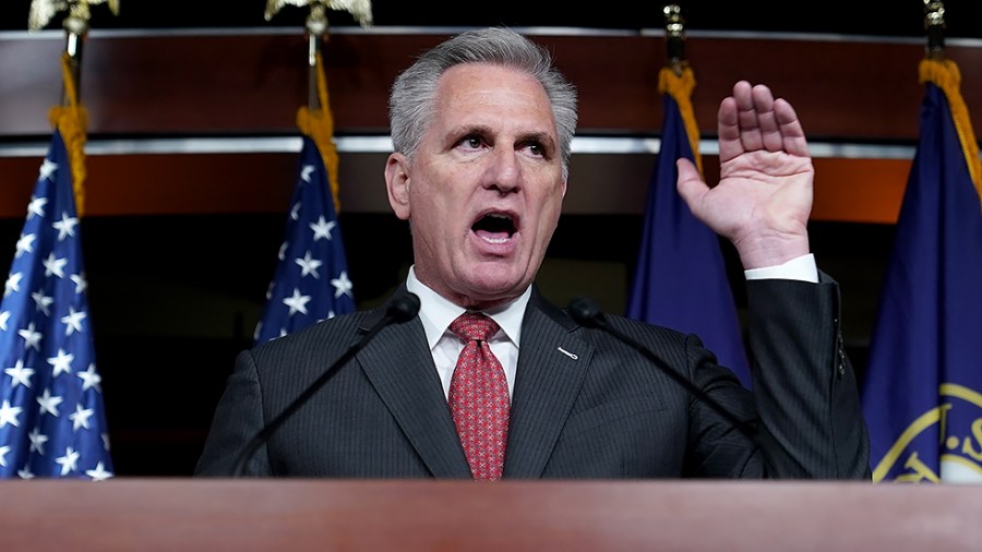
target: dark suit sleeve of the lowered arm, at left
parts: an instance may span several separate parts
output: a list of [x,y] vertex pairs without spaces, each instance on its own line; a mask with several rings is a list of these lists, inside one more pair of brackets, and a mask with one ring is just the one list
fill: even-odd
[[[252,352],[243,351],[236,359],[236,370],[218,401],[195,476],[233,476],[246,444],[264,427],[262,404],[255,358]],[[271,475],[265,445],[252,454],[241,475]]]

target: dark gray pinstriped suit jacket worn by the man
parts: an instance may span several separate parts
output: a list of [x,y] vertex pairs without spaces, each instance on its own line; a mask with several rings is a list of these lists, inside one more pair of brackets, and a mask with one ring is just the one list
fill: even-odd
[[[643,355],[579,326],[534,290],[504,477],[869,478],[869,436],[842,350],[838,287],[822,277],[817,285],[747,283],[753,393],[695,336],[608,315],[752,424],[756,439]],[[195,475],[230,475],[243,445],[383,312],[337,316],[242,352]],[[470,478],[419,319],[379,332],[270,437],[244,473]]]

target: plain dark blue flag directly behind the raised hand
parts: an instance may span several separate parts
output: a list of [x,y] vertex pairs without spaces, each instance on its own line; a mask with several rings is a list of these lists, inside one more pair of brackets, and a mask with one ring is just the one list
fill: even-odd
[[[662,70],[662,88],[666,79],[673,76]],[[675,190],[675,159],[696,159],[683,113],[691,113],[688,94],[679,101],[672,94],[663,98],[661,147],[648,188],[627,316],[698,335],[719,362],[750,387],[747,357],[719,238],[695,218]],[[687,109],[682,109],[680,101]],[[694,123],[694,116],[690,117]]]

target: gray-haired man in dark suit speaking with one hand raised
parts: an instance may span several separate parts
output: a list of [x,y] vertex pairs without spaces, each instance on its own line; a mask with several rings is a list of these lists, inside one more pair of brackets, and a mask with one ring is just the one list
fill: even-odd
[[507,29],[463,33],[399,75],[390,111],[385,181],[415,254],[396,297],[418,296],[418,316],[379,331],[244,455],[385,308],[242,352],[196,473],[241,460],[248,476],[335,478],[870,476],[838,289],[809,250],[814,170],[787,101],[734,86],[718,185],[679,160],[680,193],[747,269],[753,393],[695,336],[608,316],[656,365],[539,295],[576,127],[575,89],[546,50]]

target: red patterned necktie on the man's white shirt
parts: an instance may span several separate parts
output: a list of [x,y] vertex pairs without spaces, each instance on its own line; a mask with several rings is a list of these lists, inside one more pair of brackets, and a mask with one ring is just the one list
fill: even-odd
[[451,324],[451,332],[466,341],[451,380],[454,423],[474,478],[496,481],[508,440],[508,383],[488,346],[498,324],[481,313],[466,312]]

